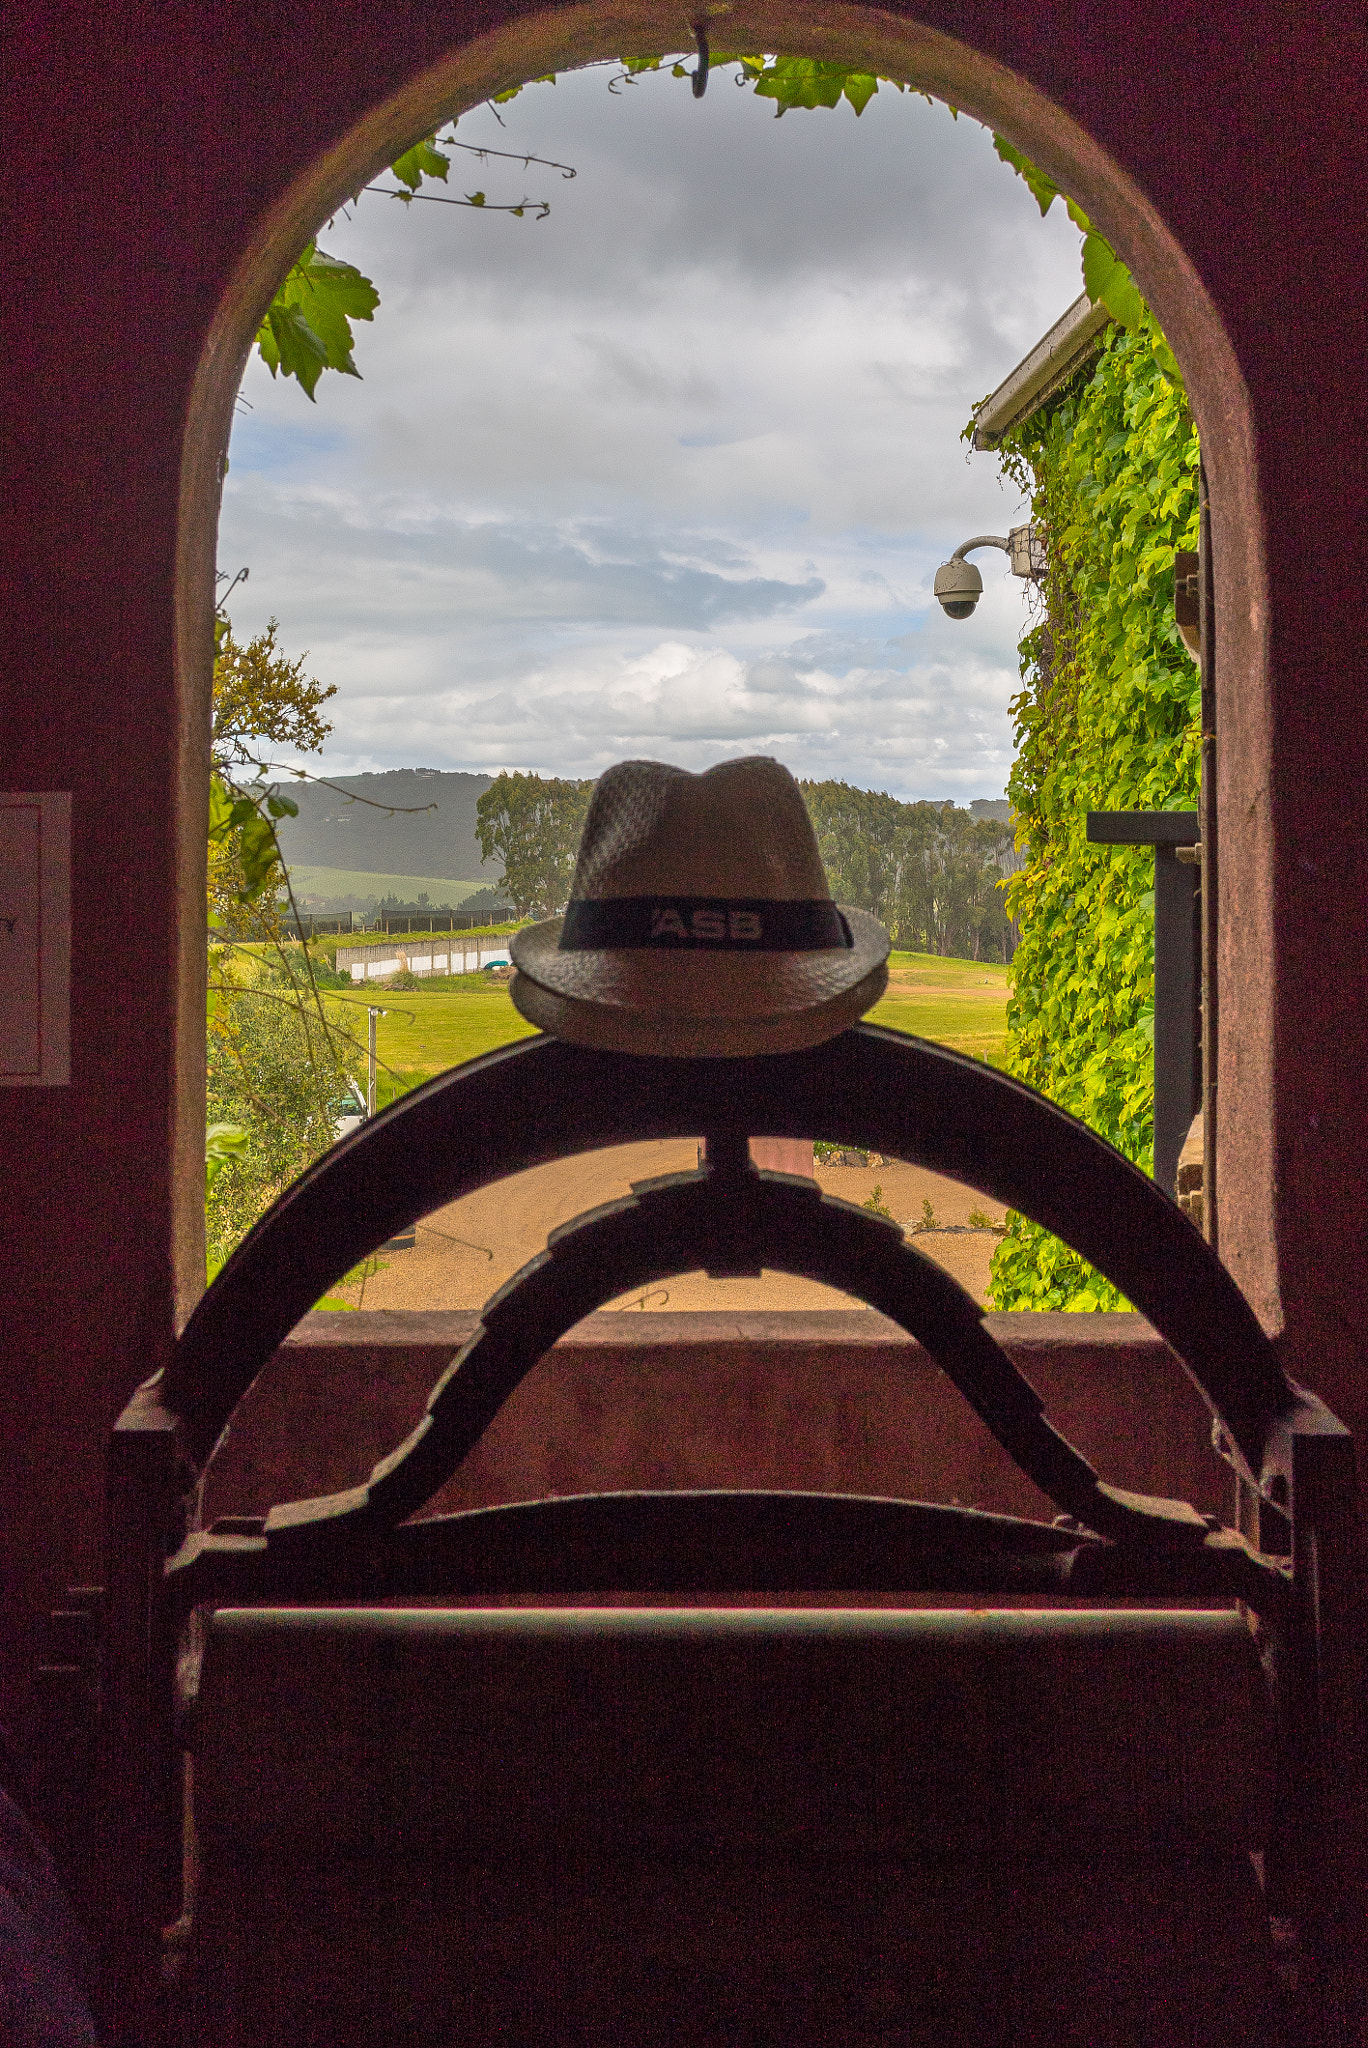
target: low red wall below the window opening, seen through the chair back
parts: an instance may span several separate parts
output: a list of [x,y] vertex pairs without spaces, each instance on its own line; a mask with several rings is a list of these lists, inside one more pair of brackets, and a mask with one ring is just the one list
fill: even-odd
[[[442,1311],[307,1315],[242,1401],[209,1466],[203,1520],[365,1485],[475,1327]],[[1210,1415],[1141,1317],[995,1315],[989,1329],[1112,1485],[1229,1522],[1235,1481],[1210,1448]],[[590,1315],[424,1513],[655,1487],[1059,1513],[920,1343],[883,1315],[842,1309]]]

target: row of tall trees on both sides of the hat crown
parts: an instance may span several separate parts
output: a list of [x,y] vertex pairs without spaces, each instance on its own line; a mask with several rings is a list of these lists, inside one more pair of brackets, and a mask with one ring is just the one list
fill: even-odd
[[[952,803],[903,803],[848,782],[801,782],[838,903],[866,909],[907,952],[1010,961],[1006,879],[1012,827]],[[518,918],[555,918],[569,899],[594,782],[500,774],[475,819],[485,860],[504,862]]]

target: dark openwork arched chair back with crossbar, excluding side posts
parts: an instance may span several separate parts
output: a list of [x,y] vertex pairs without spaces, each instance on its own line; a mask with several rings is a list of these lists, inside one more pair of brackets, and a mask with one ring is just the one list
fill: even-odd
[[[1337,1425],[1313,1395],[1290,1384],[1233,1280],[1173,1202],[1034,1090],[868,1024],[797,1055],[643,1059],[532,1038],[455,1069],[334,1147],[281,1196],[199,1305],[172,1370],[143,1389],[125,1421],[156,1409],[184,1495],[285,1335],[375,1245],[512,1171],[614,1143],[698,1133],[707,1137],[704,1169],[643,1184],[627,1202],[553,1233],[547,1253],[485,1305],[479,1331],[438,1380],[426,1415],[367,1483],[283,1501],[266,1516],[227,1518],[211,1530],[180,1518],[178,1548],[168,1524],[174,1612],[344,1591],[358,1577],[377,1595],[465,1595],[532,1589],[551,1569],[559,1587],[573,1589],[569,1554],[582,1573],[571,1579],[586,1589],[655,1583],[659,1567],[641,1552],[641,1497],[606,1495],[580,1509],[543,1503],[537,1516],[514,1520],[506,1509],[422,1524],[408,1518],[455,1473],[532,1364],[602,1300],[674,1272],[770,1266],[838,1286],[899,1321],[1063,1509],[1069,1534],[1046,1540],[1053,1561],[1042,1567],[1036,1524],[887,1503],[885,1522],[897,1507],[901,1536],[883,1563],[864,1556],[862,1583],[948,1589],[965,1575],[979,1591],[1079,1591],[1087,1583],[1130,1595],[1235,1595],[1270,1622],[1288,1616],[1294,1585],[1282,1552],[1294,1550],[1292,1542],[1274,1542],[1278,1559],[1259,1556],[1186,1503],[1106,1485],[1051,1427],[1034,1389],[985,1329],[983,1311],[901,1231],[819,1198],[811,1184],[750,1167],[752,1135],[821,1133],[934,1167],[1042,1223],[1149,1315],[1208,1403],[1219,1446],[1249,1485],[1278,1497],[1270,1528],[1282,1522],[1298,1430],[1307,1419],[1323,1432]],[[829,1585],[821,1563],[829,1505],[817,1505],[823,1497],[815,1495],[803,1509],[793,1495],[784,1499],[788,1524],[797,1516],[807,1530],[805,1573]],[[793,1528],[776,1524],[762,1495],[729,1501],[731,1563],[709,1583],[784,1583],[784,1571],[797,1569]],[[719,1505],[713,1499],[715,1511]],[[702,1497],[688,1505],[670,1495],[653,1509],[657,1536],[700,1511]],[[584,1536],[586,1516],[598,1561],[584,1540],[571,1542],[575,1528]],[[514,1526],[522,1561],[508,1548]],[[557,1542],[547,1536],[553,1526]],[[686,1542],[684,1550],[696,1569],[696,1546]],[[676,1569],[686,1569],[684,1556]]]

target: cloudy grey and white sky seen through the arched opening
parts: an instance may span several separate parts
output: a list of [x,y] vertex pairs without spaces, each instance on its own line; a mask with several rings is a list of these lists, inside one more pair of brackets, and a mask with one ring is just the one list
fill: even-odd
[[1081,289],[1077,231],[911,94],[776,121],[729,74],[612,76],[461,121],[578,176],[457,154],[446,190],[549,219],[367,195],[319,236],[381,307],[315,406],[252,360],[238,633],[274,614],[338,686],[334,774],[764,752],[999,797],[1022,586],[979,555],[954,625],[932,575],[1020,516],[960,428]]

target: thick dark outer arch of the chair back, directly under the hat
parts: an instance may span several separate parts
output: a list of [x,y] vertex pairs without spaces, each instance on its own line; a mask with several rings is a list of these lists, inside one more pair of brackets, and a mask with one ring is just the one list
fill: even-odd
[[1251,1485],[1268,1487],[1282,1470],[1278,1444],[1311,1397],[1286,1378],[1178,1206],[1034,1090],[872,1024],[809,1053],[756,1059],[643,1059],[539,1036],[403,1096],[281,1196],[190,1317],[158,1384],[190,1468],[203,1468],[299,1317],[387,1237],[524,1167],[696,1135],[821,1135],[932,1167],[1020,1210],[1149,1317]]

